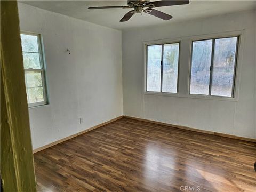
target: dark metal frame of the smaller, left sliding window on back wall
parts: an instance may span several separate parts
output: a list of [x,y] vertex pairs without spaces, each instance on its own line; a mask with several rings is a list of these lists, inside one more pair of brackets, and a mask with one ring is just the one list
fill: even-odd
[[[163,92],[163,57],[164,57],[164,45],[166,44],[179,44],[179,56],[178,56],[178,76],[177,76],[177,92],[176,93],[171,93],[171,92]],[[145,90],[144,92],[146,93],[155,93],[155,94],[178,94],[179,93],[179,73],[180,73],[180,44],[181,41],[173,41],[173,42],[159,42],[159,43],[148,43],[145,44],[145,52],[146,52],[146,58],[145,58]],[[161,45],[162,47],[162,53],[161,53],[161,79],[160,79],[160,91],[147,91],[147,81],[148,81],[148,46],[151,45]]]

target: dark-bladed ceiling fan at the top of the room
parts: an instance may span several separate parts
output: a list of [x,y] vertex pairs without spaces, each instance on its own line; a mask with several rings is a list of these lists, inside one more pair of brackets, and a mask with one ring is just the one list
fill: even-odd
[[172,19],[172,16],[166,13],[163,13],[161,11],[157,11],[154,8],[155,7],[161,7],[161,6],[172,6],[172,5],[184,5],[189,4],[189,1],[154,1],[149,2],[149,0],[128,0],[127,5],[128,6],[101,6],[101,7],[89,7],[88,9],[109,9],[109,8],[122,8],[122,9],[134,9],[132,11],[129,11],[124,15],[124,17],[120,20],[120,22],[128,21],[132,15],[135,13],[148,13],[150,15],[154,15],[155,17],[158,17],[163,20],[169,20]]

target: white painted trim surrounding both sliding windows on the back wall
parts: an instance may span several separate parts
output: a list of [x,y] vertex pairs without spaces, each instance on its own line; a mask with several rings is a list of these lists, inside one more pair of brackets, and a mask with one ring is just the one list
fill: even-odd
[[[234,93],[233,97],[221,97],[214,95],[196,95],[189,94],[190,89],[190,69],[191,69],[191,57],[192,57],[192,42],[199,41],[203,39],[212,39],[212,38],[223,38],[223,37],[231,37],[231,36],[239,36],[238,46],[237,46],[237,59],[236,59],[236,74],[234,77]],[[238,102],[238,91],[240,84],[240,76],[241,76],[241,68],[242,68],[242,58],[243,58],[243,49],[244,49],[244,41],[245,41],[245,29],[243,30],[235,30],[235,31],[226,31],[220,33],[212,33],[212,34],[202,34],[202,35],[191,35],[191,36],[182,36],[182,37],[174,37],[170,39],[159,39],[154,41],[143,41],[142,42],[142,63],[143,63],[143,79],[142,79],[142,94],[145,95],[157,95],[161,97],[179,97],[179,98],[191,98],[191,99],[206,99],[206,100],[218,100],[218,101],[231,101]],[[154,44],[165,44],[165,43],[177,43],[180,42],[180,63],[179,63],[179,77],[178,77],[178,90],[177,93],[163,93],[163,92],[148,92],[146,90],[147,87],[147,45]],[[189,42],[189,43],[188,43]],[[189,50],[185,52],[184,50]],[[183,59],[181,57],[185,57]],[[186,61],[185,61],[186,60]],[[185,63],[186,62],[186,63]],[[184,65],[187,66],[186,74],[184,74],[180,69],[184,68]],[[183,69],[182,69],[183,70]],[[181,76],[180,76],[181,75]],[[186,79],[180,83],[181,79]],[[183,84],[183,85],[181,85]],[[182,90],[182,91],[180,91]]]

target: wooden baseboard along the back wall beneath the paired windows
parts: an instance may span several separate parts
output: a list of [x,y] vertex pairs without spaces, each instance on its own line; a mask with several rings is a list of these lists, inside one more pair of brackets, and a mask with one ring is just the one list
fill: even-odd
[[217,135],[217,136],[226,137],[226,138],[256,142],[256,139],[253,139],[253,138],[239,137],[239,136],[236,136],[236,135],[230,135],[230,134],[226,134],[226,133],[218,133],[218,132],[214,132],[214,131],[205,131],[205,130],[190,128],[190,127],[181,126],[181,125],[173,125],[173,124],[157,122],[157,121],[153,121],[153,120],[149,120],[149,119],[142,119],[142,118],[138,118],[138,117],[131,117],[131,116],[125,116],[125,115],[123,117],[130,118],[130,119],[135,119],[135,120],[139,120],[139,121],[143,121],[143,122],[155,123],[155,124],[158,124],[158,125],[165,125],[165,126],[175,127],[175,128],[183,129],[183,130],[189,130],[189,131],[195,131],[195,132],[200,132],[200,133]]

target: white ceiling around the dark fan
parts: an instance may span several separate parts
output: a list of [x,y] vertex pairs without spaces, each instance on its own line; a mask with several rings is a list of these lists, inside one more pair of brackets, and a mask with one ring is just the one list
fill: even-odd
[[214,15],[256,9],[256,1],[196,1],[188,5],[167,6],[156,8],[173,16],[169,21],[158,19],[143,13],[134,14],[127,22],[119,20],[130,9],[100,9],[89,10],[90,6],[119,6],[127,5],[127,1],[20,1],[41,9],[68,15],[98,25],[125,30],[136,27],[166,25],[172,22],[193,20],[197,18],[212,17]]

